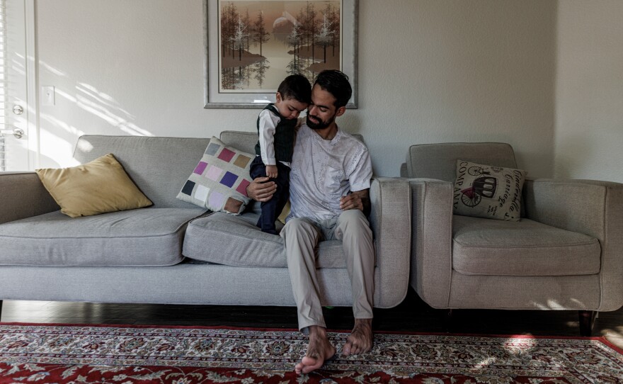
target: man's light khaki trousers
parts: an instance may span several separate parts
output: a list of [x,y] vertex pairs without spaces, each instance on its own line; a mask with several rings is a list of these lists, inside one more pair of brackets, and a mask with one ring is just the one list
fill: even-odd
[[299,312],[299,329],[326,327],[316,276],[316,252],[320,239],[341,240],[350,277],[355,319],[372,319],[375,251],[370,223],[360,210],[345,210],[338,218],[315,222],[289,220],[281,230],[287,253],[292,291]]

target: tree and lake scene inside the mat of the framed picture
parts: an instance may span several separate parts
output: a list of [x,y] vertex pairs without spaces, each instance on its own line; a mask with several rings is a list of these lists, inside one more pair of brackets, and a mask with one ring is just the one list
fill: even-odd
[[341,0],[219,0],[220,92],[341,69]]

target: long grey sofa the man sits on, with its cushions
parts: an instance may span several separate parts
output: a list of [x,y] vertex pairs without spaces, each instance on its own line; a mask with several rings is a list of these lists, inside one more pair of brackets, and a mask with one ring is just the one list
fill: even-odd
[[[222,132],[253,153],[256,134]],[[212,213],[176,199],[207,146],[205,138],[88,135],[74,157],[113,153],[154,202],[150,208],[69,218],[33,172],[0,174],[0,300],[96,303],[295,305],[282,239],[243,215]],[[408,182],[378,178],[370,191],[375,237],[375,306],[408,289]],[[324,305],[351,305],[341,244],[318,247]],[[1,302],[0,302],[1,303]]]

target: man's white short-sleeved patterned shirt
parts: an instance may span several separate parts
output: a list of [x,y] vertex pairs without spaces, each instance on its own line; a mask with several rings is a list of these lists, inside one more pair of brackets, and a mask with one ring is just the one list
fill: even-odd
[[342,213],[340,198],[370,188],[372,162],[367,147],[338,129],[332,140],[302,124],[297,132],[290,171],[291,218],[316,221]]

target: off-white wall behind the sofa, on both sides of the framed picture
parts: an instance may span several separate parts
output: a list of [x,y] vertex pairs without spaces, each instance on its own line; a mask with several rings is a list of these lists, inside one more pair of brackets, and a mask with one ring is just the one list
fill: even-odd
[[[72,164],[83,134],[205,137],[255,130],[256,110],[203,107],[200,0],[38,0],[40,166]],[[360,0],[359,106],[375,174],[408,145],[510,142],[554,173],[556,1]]]

